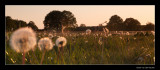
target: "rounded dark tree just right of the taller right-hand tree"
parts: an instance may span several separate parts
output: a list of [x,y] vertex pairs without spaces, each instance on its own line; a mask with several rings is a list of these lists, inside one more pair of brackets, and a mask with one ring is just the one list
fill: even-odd
[[140,25],[141,23],[134,18],[126,18],[124,21],[124,24],[126,25],[126,30],[127,31],[137,31],[140,30]]

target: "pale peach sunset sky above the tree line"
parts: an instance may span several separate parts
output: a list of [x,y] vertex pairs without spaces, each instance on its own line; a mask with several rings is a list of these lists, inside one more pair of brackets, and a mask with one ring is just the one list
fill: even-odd
[[[5,16],[12,19],[33,21],[39,29],[43,29],[45,16],[53,10],[67,10],[74,14],[78,26],[97,26],[113,15],[137,19],[141,25],[147,22],[155,24],[154,5],[5,5]],[[104,24],[105,25],[105,24]]]

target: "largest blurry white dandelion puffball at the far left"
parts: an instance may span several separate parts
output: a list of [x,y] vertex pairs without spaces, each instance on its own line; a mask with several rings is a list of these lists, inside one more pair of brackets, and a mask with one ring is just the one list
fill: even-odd
[[16,52],[28,52],[36,45],[36,34],[31,28],[19,28],[11,35],[10,45]]

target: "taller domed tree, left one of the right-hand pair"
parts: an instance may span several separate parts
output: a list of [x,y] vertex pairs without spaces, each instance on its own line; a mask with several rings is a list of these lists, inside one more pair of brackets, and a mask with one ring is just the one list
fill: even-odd
[[109,30],[120,30],[122,29],[122,25],[123,25],[123,19],[118,15],[113,15],[109,19],[109,22],[107,23],[107,28]]

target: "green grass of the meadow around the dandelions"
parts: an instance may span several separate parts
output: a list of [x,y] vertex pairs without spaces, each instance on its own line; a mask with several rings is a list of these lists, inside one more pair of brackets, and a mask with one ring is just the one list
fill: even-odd
[[[43,64],[154,64],[154,36],[130,35],[121,36],[123,39],[120,39],[120,36],[105,37],[72,33],[72,36],[67,34],[65,37],[67,45],[64,47],[64,54],[60,54],[59,61],[57,61],[58,49],[54,46],[52,50],[45,53]],[[102,37],[102,45],[98,43],[100,37]],[[56,39],[57,37],[53,37],[53,43]],[[6,64],[22,64],[22,53],[12,50],[7,40],[5,48],[8,52],[8,55],[5,55]],[[28,53],[25,56],[26,64],[40,63],[42,52],[37,45],[34,53],[32,51]],[[147,54],[150,56],[146,56]],[[143,60],[139,60],[141,57]],[[11,58],[16,62],[13,63]]]

